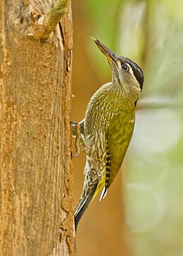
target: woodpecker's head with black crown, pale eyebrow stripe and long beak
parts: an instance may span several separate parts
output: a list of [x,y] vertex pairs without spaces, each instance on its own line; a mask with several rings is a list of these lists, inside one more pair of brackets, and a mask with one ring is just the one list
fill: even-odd
[[136,96],[140,95],[140,91],[143,89],[143,70],[140,66],[126,57],[117,55],[98,39],[94,39],[94,41],[108,60],[113,83],[120,85],[127,92],[134,92]]

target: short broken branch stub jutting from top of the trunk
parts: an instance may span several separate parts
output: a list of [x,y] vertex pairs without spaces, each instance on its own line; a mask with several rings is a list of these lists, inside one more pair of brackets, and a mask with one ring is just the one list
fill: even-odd
[[28,28],[27,35],[34,37],[34,39],[46,40],[50,37],[53,29],[58,24],[59,20],[63,17],[66,12],[66,5],[68,0],[57,0],[47,12],[46,15],[40,17],[37,24],[34,22]]

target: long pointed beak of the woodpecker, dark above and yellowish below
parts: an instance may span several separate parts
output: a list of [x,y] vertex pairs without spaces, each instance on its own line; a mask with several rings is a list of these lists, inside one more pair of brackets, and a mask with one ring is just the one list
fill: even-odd
[[112,70],[116,70],[117,68],[117,55],[110,50],[106,45],[102,44],[98,39],[95,39],[92,37],[92,39],[95,41],[95,44],[97,44],[98,48],[101,50],[102,53],[104,53],[104,56],[108,60],[109,65],[111,66]]

